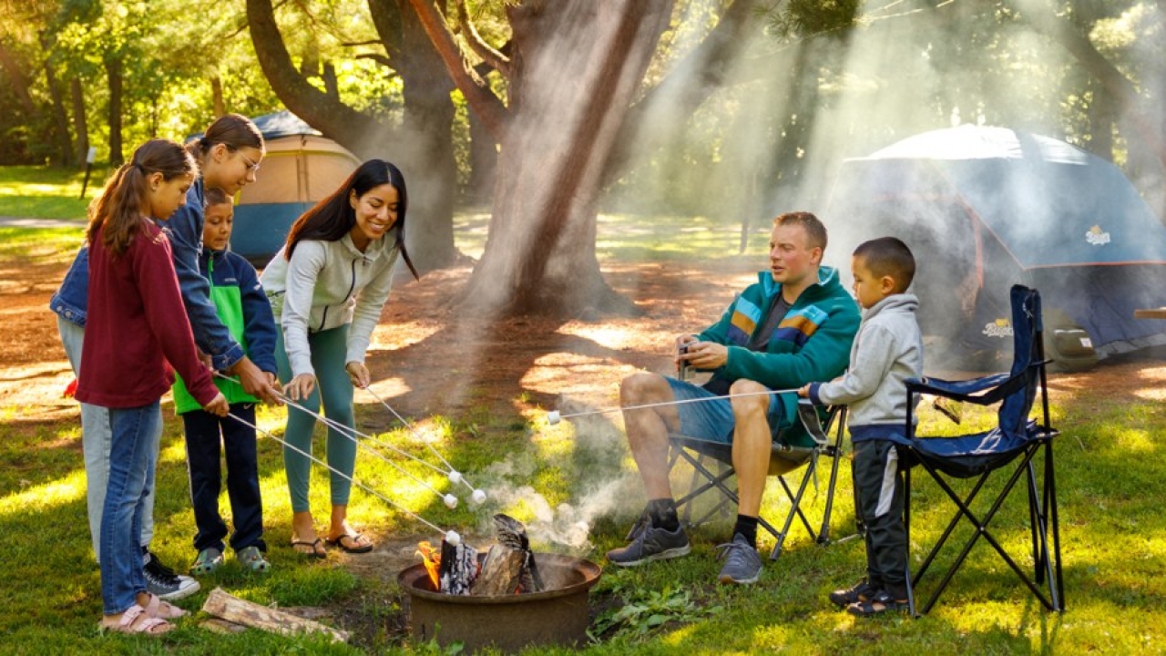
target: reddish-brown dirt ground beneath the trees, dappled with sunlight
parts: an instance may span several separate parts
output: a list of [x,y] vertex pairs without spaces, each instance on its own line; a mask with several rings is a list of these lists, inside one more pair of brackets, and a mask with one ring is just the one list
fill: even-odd
[[[605,270],[609,282],[631,296],[641,316],[581,317],[575,321],[489,317],[455,321],[447,299],[470,266],[434,272],[399,285],[385,308],[368,354],[373,390],[407,417],[457,416],[487,409],[492,416],[552,410],[570,399],[596,407],[616,402],[620,378],[637,369],[667,371],[670,336],[703,327],[733,293],[756,279],[758,263],[670,263]],[[21,417],[68,420],[77,416],[62,391],[72,379],[48,310],[65,265],[0,266],[0,407]],[[1166,398],[1166,360],[1160,354],[1114,358],[1086,374],[1054,375],[1056,395],[1098,398]],[[358,574],[384,582],[415,561],[416,539],[381,539],[374,553],[349,559]],[[386,586],[392,587],[392,586]],[[360,633],[360,613],[336,610],[339,623]],[[396,621],[403,630],[403,616]],[[391,629],[392,630],[392,629]],[[359,642],[359,640],[358,640]]]

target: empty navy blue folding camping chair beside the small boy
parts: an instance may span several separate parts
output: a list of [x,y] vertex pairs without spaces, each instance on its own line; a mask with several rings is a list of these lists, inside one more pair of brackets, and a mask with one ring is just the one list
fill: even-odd
[[[935,546],[923,559],[919,571],[911,575],[908,558],[907,595],[911,614],[915,612],[914,588],[935,560],[940,550],[947,543],[951,532],[967,518],[972,525],[972,536],[968,539],[955,561],[943,574],[939,587],[932,593],[923,606],[927,613],[935,605],[940,594],[947,588],[953,575],[963,565],[968,552],[983,537],[1012,568],[1027,588],[1049,610],[1065,609],[1065,586],[1061,578],[1061,540],[1056,517],[1056,486],[1053,472],[1053,438],[1058,431],[1049,426],[1048,396],[1045,365],[1044,343],[1041,340],[1040,294],[1035,289],[1016,285],[1012,287],[1012,335],[1013,362],[1009,374],[997,374],[970,381],[940,381],[935,378],[907,381],[907,423],[906,434],[899,438],[900,467],[905,469],[905,509],[904,522],[907,529],[907,544],[911,544],[911,470],[915,465],[930,474],[932,479],[955,503],[957,511]],[[1040,421],[1030,419],[1033,402],[1040,393]],[[990,406],[999,403],[997,412],[998,425],[989,431],[957,437],[920,437],[915,434],[912,421],[914,397],[927,393],[961,403],[972,403]],[[1038,459],[1037,455],[1044,455]],[[1038,467],[1038,462],[1041,466]],[[991,502],[983,515],[974,512],[971,504],[984,489],[984,483],[995,472],[1007,473],[1007,467],[1014,465],[1007,475],[1004,487]],[[1038,469],[1039,476],[1038,476]],[[978,479],[976,479],[978,476]],[[1024,476],[1028,489],[1028,519],[1032,538],[1033,575],[1028,577],[1017,565],[1016,560],[1004,550],[1000,542],[990,530],[989,524],[1004,504],[1016,483]],[[967,496],[957,494],[949,481],[951,479],[976,479]],[[999,479],[999,476],[997,477]],[[1040,484],[1038,487],[1038,481]],[[982,504],[981,504],[982,505]],[[908,547],[909,549],[909,547]],[[1041,589],[1047,579],[1048,594]]]

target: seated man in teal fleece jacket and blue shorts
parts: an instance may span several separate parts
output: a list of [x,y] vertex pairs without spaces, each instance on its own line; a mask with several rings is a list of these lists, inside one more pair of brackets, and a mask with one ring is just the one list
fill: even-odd
[[624,411],[627,441],[648,504],[632,530],[632,543],[607,552],[616,565],[631,567],[689,551],[668,481],[668,433],[676,432],[732,445],[740,503],[732,540],[718,547],[725,558],[718,579],[757,581],[761,573],[757,518],[770,449],[784,432],[793,433],[798,403],[794,393],[765,392],[841,375],[858,330],[858,307],[837,271],[821,265],[826,242],[826,226],[813,214],[791,212],[773,219],[770,271],[737,296],[721,321],[700,335],[676,337],[677,363],[714,372],[703,388],[647,372],[633,374],[620,384],[624,407],[731,397]]

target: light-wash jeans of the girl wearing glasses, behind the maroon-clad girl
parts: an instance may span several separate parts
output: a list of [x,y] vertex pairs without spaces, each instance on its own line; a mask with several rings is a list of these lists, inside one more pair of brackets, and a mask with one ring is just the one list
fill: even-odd
[[[57,332],[65,348],[73,376],[80,371],[80,346],[85,340],[85,328],[57,315]],[[159,409],[157,431],[154,435],[154,458],[157,459],[162,441],[162,416]],[[80,448],[85,459],[86,508],[89,511],[89,535],[93,540],[93,557],[101,560],[101,511],[105,508],[105,486],[110,477],[110,412],[100,405],[80,404]],[[142,515],[142,546],[149,546],[154,537],[154,491],[146,497]]]

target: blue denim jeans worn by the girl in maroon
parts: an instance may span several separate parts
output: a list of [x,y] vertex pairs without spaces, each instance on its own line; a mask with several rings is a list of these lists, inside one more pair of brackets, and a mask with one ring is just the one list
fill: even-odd
[[101,600],[106,615],[124,613],[146,592],[141,530],[146,497],[154,490],[161,411],[111,407],[110,479],[101,511]]

